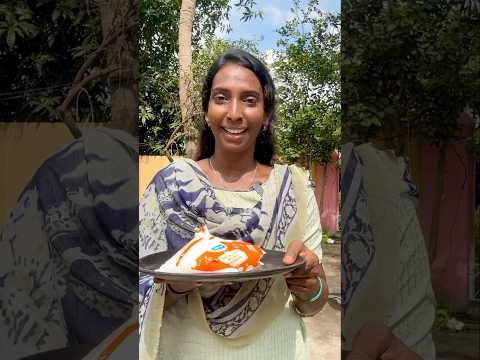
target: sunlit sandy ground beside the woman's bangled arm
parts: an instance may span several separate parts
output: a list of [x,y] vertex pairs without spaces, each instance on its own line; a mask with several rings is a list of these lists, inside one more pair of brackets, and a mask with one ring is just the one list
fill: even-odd
[[[323,267],[331,294],[340,294],[340,242],[323,245]],[[310,359],[340,359],[341,313],[329,305],[317,315],[305,318],[307,326]]]

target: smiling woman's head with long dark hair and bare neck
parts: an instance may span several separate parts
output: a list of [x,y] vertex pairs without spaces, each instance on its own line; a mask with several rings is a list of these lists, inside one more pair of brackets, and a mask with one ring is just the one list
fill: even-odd
[[206,126],[197,159],[212,184],[246,190],[268,178],[274,94],[268,70],[244,51],[231,50],[212,65],[202,93]]

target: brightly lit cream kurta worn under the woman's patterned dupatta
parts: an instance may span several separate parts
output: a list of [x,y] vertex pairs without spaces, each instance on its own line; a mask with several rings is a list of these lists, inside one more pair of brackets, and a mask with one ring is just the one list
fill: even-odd
[[[253,206],[255,191],[233,192],[216,189],[217,198],[227,207]],[[305,245],[322,258],[320,216],[313,190],[308,188]],[[162,360],[306,360],[309,359],[303,320],[293,310],[291,298],[284,310],[248,345],[232,346],[228,340],[206,332],[193,321],[186,299],[166,309],[160,333]],[[317,360],[317,359],[316,359]]]

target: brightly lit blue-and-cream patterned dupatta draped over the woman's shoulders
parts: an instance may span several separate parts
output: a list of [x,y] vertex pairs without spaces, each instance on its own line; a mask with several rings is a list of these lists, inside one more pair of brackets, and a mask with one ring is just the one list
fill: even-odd
[[[178,250],[192,239],[194,229],[204,224],[222,238],[240,238],[265,249],[284,250],[293,238],[303,238],[299,221],[303,209],[297,206],[301,195],[295,189],[305,186],[308,177],[292,176],[296,173],[301,172],[294,166],[276,165],[269,179],[256,186],[260,201],[251,208],[232,208],[217,199],[195,162],[178,160],[170,164],[154,177],[140,201],[140,256]],[[305,182],[294,186],[296,181]],[[163,308],[165,289],[163,284],[151,284],[151,278],[141,276],[141,348],[155,349],[161,324],[158,309]],[[288,288],[280,277],[225,286],[213,294],[202,295],[197,289],[188,303],[194,320],[207,331],[232,343],[245,343],[278,315],[288,297]],[[148,311],[150,307],[155,311]],[[152,317],[156,320],[148,319]]]

